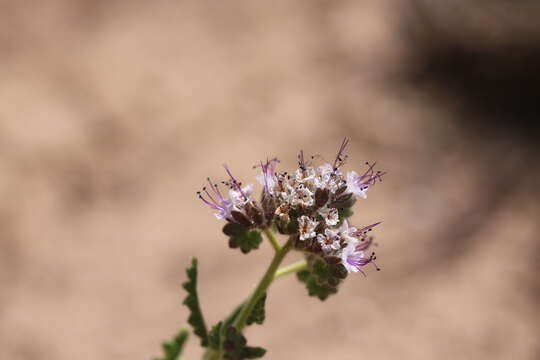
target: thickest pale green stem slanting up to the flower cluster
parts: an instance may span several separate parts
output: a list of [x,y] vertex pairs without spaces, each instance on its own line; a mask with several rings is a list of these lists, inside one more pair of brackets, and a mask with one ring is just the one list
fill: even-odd
[[266,292],[272,281],[274,280],[274,276],[276,274],[276,270],[278,269],[279,265],[285,258],[285,255],[291,250],[292,242],[291,239],[287,241],[287,243],[280,247],[279,250],[276,251],[276,254],[274,255],[274,258],[272,259],[272,262],[270,263],[270,266],[268,266],[268,269],[264,273],[263,278],[253,291],[253,294],[247,299],[246,303],[242,307],[242,310],[240,311],[240,314],[238,314],[238,317],[236,318],[236,321],[233,323],[233,326],[239,331],[242,332],[244,327],[246,326],[246,320],[253,311],[253,307],[257,303],[257,300],[261,297],[263,293]]

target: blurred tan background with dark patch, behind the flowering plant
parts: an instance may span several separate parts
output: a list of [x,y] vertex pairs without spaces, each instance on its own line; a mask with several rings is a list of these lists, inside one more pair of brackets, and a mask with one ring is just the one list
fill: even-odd
[[[227,162],[378,161],[381,272],[293,277],[269,359],[540,356],[540,8],[504,1],[0,1],[0,358],[149,359],[200,258],[214,323],[271,254],[196,198]],[[289,259],[292,261],[293,259]],[[201,352],[193,338],[187,359]]]

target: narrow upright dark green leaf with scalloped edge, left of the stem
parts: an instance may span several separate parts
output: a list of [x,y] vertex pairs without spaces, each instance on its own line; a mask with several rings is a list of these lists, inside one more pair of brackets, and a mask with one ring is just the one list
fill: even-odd
[[208,345],[208,332],[206,324],[199,306],[199,297],[197,295],[197,259],[193,258],[191,267],[186,270],[188,281],[182,284],[188,295],[184,299],[184,305],[190,310],[188,323],[193,327],[193,332],[201,338],[201,346]]

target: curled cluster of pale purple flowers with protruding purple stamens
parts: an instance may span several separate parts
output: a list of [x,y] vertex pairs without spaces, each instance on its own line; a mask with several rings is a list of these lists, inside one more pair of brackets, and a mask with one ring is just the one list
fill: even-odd
[[307,257],[323,258],[328,264],[341,264],[348,273],[362,272],[368,264],[375,265],[375,253],[368,249],[373,238],[367,234],[380,222],[354,227],[347,218],[357,198],[366,198],[367,191],[381,180],[384,173],[375,171],[375,163],[366,163],[362,175],[354,171],[342,172],[348,156],[344,139],[333,163],[312,164],[304,153],[298,155],[298,168],[292,172],[278,172],[277,158],[260,162],[254,168],[261,172],[257,180],[263,186],[259,201],[253,199],[253,186],[244,186],[230,172],[228,196],[208,179],[209,186],[198,192],[218,219],[247,229],[275,227],[280,233],[292,236],[296,249]]

